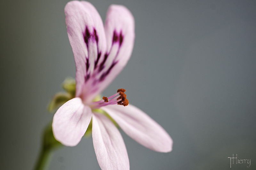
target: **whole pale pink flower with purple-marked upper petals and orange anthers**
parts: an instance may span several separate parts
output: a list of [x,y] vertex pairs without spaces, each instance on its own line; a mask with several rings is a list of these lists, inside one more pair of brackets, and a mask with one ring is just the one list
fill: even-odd
[[76,146],[92,119],[92,140],[100,168],[129,169],[123,138],[114,123],[102,114],[105,111],[138,143],[157,152],[170,152],[169,134],[137,107],[126,106],[124,89],[93,101],[131,56],[135,37],[131,12],[124,6],[111,5],[104,26],[98,11],[86,1],[69,2],[65,14],[76,63],[76,97],[55,113],[54,137],[63,145]]

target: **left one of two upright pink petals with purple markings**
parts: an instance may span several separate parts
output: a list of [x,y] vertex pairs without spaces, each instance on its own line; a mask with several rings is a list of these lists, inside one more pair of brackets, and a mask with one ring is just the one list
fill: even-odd
[[65,6],[68,38],[76,63],[76,97],[86,96],[84,85],[92,77],[97,63],[103,60],[106,37],[102,19],[86,1],[70,1]]

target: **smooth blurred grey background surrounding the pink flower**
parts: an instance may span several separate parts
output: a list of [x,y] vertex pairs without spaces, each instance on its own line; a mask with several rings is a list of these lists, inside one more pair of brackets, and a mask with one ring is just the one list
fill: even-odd
[[[75,77],[67,2],[0,2],[0,169],[33,169],[53,116],[46,106]],[[91,2],[103,20],[110,4],[123,4],[136,23],[131,59],[102,95],[126,89],[174,141],[158,153],[121,131],[131,170],[255,169],[256,1]],[[230,168],[232,154],[251,166]],[[92,137],[56,150],[49,169],[100,169]]]

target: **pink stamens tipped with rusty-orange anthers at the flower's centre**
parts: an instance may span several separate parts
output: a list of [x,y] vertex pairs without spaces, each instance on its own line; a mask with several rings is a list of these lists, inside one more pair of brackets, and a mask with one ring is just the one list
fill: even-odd
[[129,104],[129,101],[126,99],[126,94],[124,94],[124,92],[125,89],[118,89],[116,94],[113,94],[109,97],[104,96],[102,97],[102,100],[92,102],[90,105],[92,109],[114,104],[127,106]]

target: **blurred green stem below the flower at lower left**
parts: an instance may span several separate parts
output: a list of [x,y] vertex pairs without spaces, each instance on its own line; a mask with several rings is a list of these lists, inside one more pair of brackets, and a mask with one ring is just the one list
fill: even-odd
[[53,136],[52,123],[49,123],[49,125],[44,129],[42,148],[37,159],[35,170],[47,169],[53,149],[60,146],[62,146],[62,144],[60,144],[60,142],[58,142]]

